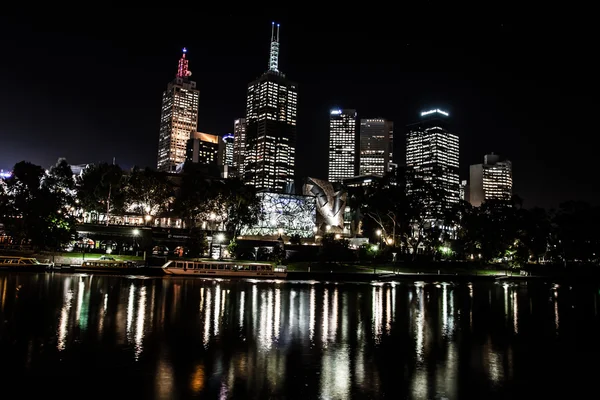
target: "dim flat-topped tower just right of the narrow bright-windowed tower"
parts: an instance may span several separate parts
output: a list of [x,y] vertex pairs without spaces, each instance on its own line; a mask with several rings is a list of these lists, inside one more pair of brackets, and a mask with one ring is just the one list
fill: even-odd
[[360,120],[359,175],[383,176],[393,156],[394,123],[385,119]]

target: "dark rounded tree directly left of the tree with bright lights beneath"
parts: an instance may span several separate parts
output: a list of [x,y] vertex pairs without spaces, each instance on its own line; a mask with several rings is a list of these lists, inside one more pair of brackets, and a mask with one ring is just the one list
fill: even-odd
[[76,180],[77,199],[85,211],[103,213],[108,225],[111,214],[123,212],[123,183],[123,171],[118,165],[90,165]]

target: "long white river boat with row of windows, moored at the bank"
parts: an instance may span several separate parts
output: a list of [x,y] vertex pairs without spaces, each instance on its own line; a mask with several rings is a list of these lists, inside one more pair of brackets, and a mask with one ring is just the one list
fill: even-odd
[[271,278],[287,277],[283,265],[273,267],[266,263],[242,264],[235,261],[167,261],[163,265],[166,275],[198,276],[205,278]]

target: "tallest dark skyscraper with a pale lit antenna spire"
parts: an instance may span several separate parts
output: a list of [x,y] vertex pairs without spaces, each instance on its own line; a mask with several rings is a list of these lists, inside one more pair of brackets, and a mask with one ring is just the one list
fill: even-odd
[[279,71],[279,24],[271,27],[269,69],[248,85],[244,180],[284,192],[294,182],[297,84]]

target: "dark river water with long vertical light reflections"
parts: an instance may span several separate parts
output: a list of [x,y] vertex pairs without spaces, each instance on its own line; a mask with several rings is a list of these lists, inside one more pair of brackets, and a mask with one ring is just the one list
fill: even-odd
[[0,398],[597,398],[598,288],[0,273]]

